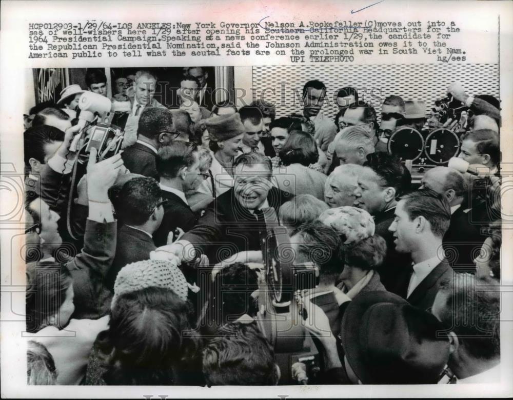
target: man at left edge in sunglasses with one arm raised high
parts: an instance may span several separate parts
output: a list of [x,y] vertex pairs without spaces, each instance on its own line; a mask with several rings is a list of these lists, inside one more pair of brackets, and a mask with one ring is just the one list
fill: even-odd
[[[88,218],[84,247],[65,264],[73,278],[74,318],[96,319],[107,314],[110,307],[111,294],[103,281],[114,259],[117,223],[112,214],[108,189],[115,182],[122,166],[121,154],[96,163],[96,149],[91,150],[86,175]],[[39,243],[31,245],[35,245],[37,251],[43,254],[36,268],[27,270],[36,272],[39,267],[55,266],[53,251],[62,244],[57,230],[60,215],[51,211],[41,197],[34,199],[28,205],[27,211],[33,218],[33,229],[40,239]]]

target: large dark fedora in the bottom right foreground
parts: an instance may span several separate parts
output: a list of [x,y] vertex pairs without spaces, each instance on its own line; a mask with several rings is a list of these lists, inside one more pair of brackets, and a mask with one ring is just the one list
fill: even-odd
[[342,346],[363,384],[436,384],[449,359],[442,323],[383,291],[360,293],[347,306]]

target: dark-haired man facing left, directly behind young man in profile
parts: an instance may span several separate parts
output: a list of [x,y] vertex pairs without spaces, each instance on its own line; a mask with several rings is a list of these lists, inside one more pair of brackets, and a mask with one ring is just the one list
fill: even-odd
[[354,206],[369,212],[376,224],[376,234],[385,239],[387,253],[378,268],[385,288],[402,297],[406,296],[411,273],[411,257],[396,249],[394,238],[388,231],[397,206],[396,198],[410,190],[411,175],[401,162],[387,153],[368,157],[365,167],[356,170],[357,188]]

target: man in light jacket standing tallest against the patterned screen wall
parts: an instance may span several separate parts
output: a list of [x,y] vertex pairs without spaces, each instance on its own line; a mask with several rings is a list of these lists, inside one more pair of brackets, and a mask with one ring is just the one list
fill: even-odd
[[337,127],[331,119],[325,117],[321,108],[326,98],[326,86],[315,79],[308,81],[303,87],[303,115],[315,126],[315,142],[326,151],[328,145],[337,134]]

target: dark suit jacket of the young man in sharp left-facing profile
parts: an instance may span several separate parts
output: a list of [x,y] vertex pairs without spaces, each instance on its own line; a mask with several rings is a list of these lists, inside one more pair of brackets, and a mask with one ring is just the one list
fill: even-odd
[[435,296],[440,289],[440,284],[446,280],[452,281],[453,274],[452,268],[449,266],[446,259],[443,259],[442,262],[422,280],[419,286],[413,289],[413,292],[411,292],[406,300],[412,306],[431,311],[433,302],[435,302]]

